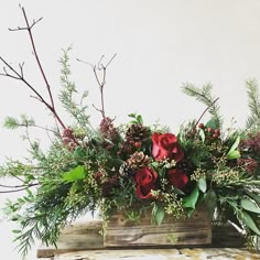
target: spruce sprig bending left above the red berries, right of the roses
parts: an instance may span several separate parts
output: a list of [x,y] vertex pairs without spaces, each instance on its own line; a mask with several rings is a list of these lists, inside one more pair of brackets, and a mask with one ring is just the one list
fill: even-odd
[[[184,94],[195,97],[198,101],[207,106],[207,109],[204,111],[204,113],[208,110],[216,123],[216,127],[220,128],[223,120],[221,116],[219,115],[219,106],[217,105],[218,98],[215,98],[212,95],[212,88],[213,86],[209,83],[205,84],[202,88],[197,88],[193,84],[186,83],[183,85],[182,90]],[[204,113],[202,116],[204,116]]]

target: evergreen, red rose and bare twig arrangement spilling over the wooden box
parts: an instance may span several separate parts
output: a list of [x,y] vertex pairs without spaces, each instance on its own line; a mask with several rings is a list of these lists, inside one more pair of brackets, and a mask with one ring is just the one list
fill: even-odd
[[[104,86],[106,72],[113,57],[106,64],[102,58],[90,65],[100,90],[101,106],[97,112],[101,122],[91,126],[88,107],[75,101],[75,84],[69,79],[68,51],[61,58],[61,104],[74,119],[67,127],[59,117],[52,88],[48,84],[33,41],[32,29],[41,20],[29,23],[24,9],[34,56],[50,101],[24,78],[23,66],[15,69],[4,58],[2,76],[14,78],[29,87],[55,119],[54,127],[45,129],[51,145],[45,151],[32,140],[30,128],[37,124],[28,116],[9,117],[9,129],[25,129],[29,156],[25,161],[8,160],[0,167],[1,176],[19,182],[4,186],[2,192],[24,193],[7,203],[6,212],[20,225],[13,230],[20,251],[25,254],[34,238],[46,243],[56,242],[59,230],[86,212],[99,210],[104,219],[110,210],[124,210],[130,220],[137,220],[143,210],[152,209],[151,221],[163,223],[165,216],[187,218],[206,204],[215,224],[230,221],[248,237],[260,236],[260,100],[256,80],[247,82],[250,116],[245,129],[223,128],[218,99],[212,95],[209,84],[202,88],[183,86],[186,95],[205,105],[196,120],[171,132],[159,124],[147,126],[142,116],[130,113],[130,121],[116,126],[106,115]],[[210,120],[204,122],[204,115]],[[140,207],[130,212],[132,205]]]

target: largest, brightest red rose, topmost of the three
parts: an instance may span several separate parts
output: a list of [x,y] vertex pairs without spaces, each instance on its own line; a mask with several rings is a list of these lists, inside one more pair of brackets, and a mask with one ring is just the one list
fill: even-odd
[[171,159],[178,162],[184,156],[183,150],[178,147],[177,138],[172,133],[160,134],[154,132],[152,142],[152,155],[156,161]]

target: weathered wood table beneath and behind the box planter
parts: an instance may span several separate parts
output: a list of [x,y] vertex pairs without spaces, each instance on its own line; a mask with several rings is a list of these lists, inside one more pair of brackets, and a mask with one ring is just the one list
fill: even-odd
[[197,248],[120,248],[104,247],[101,221],[83,221],[66,227],[57,248],[40,247],[39,260],[246,260],[260,259],[260,252],[249,252],[245,239],[231,226],[213,228],[213,243]]

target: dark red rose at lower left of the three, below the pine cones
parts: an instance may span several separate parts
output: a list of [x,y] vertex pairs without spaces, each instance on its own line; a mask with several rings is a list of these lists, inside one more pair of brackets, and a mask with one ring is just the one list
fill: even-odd
[[150,167],[139,169],[136,172],[134,181],[137,183],[137,195],[140,198],[151,198],[151,189],[155,189],[158,173]]

